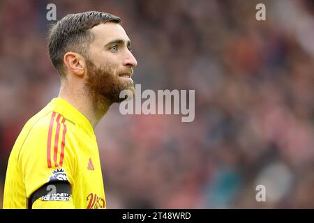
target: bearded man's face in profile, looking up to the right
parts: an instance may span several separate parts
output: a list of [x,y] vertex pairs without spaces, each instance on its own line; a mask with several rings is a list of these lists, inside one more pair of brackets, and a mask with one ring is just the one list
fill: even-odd
[[105,97],[121,102],[122,90],[135,93],[133,67],[137,61],[130,52],[130,40],[120,24],[107,22],[91,29],[95,39],[89,45],[86,86],[94,100]]

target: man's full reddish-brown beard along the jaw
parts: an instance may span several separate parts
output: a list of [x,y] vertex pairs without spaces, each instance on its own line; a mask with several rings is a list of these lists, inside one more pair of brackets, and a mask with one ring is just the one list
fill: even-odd
[[109,103],[112,105],[114,102],[122,102],[128,98],[120,98],[121,91],[130,90],[132,95],[128,94],[130,97],[135,95],[134,84],[132,81],[125,80],[119,77],[123,73],[133,73],[132,68],[117,70],[117,75],[114,74],[114,68],[109,62],[106,62],[99,68],[97,68],[94,63],[87,59],[87,81],[85,87],[90,93],[91,98],[96,107],[101,107],[104,103]]

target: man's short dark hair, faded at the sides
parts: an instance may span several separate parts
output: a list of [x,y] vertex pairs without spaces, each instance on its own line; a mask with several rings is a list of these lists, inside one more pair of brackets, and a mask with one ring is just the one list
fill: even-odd
[[63,76],[64,54],[76,52],[88,57],[88,46],[94,39],[89,29],[106,22],[120,24],[121,19],[109,13],[88,11],[66,15],[51,27],[48,36],[49,56],[61,77]]

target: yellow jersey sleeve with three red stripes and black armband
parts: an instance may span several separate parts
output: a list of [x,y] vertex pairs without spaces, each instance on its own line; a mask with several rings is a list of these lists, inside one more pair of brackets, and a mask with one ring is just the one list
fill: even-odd
[[[54,112],[49,118],[48,123],[41,121],[31,128],[19,155],[27,199],[43,185],[68,182],[71,189],[75,185],[75,153],[66,119]],[[66,200],[61,195],[47,191],[47,196],[37,199],[33,208],[74,207],[72,194]]]

